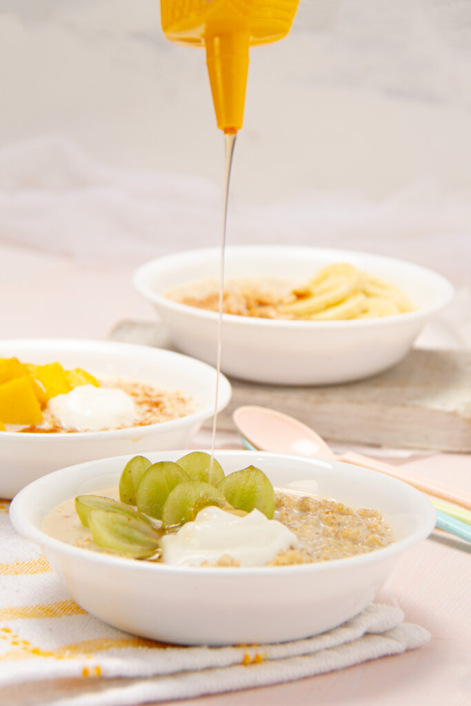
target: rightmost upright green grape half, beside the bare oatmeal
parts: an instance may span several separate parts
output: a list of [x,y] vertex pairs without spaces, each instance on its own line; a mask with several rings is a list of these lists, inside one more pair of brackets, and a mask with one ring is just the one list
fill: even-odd
[[250,513],[260,510],[271,520],[275,512],[275,492],[270,480],[259,468],[249,466],[230,473],[217,486],[234,508]]

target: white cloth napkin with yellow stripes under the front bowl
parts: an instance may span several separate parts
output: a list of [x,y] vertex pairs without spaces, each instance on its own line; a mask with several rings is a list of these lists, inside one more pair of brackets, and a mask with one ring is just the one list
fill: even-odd
[[[307,640],[179,647],[137,638],[85,613],[0,502],[0,689],[16,706],[125,706],[266,686],[424,645],[427,630],[371,605]],[[119,678],[119,679],[117,679]],[[54,681],[62,680],[62,681]]]

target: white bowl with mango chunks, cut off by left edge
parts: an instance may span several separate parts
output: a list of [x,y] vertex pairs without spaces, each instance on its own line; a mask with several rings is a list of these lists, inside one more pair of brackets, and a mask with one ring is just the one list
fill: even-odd
[[[193,397],[196,412],[161,424],[111,431],[66,434],[0,431],[0,498],[13,498],[31,481],[58,468],[117,453],[186,448],[205,419],[213,416],[216,371],[201,361],[147,346],[88,340],[8,340],[0,357],[27,363],[58,360],[66,368],[83,368],[96,376],[130,378]],[[231,388],[222,376],[218,409],[229,402]]]

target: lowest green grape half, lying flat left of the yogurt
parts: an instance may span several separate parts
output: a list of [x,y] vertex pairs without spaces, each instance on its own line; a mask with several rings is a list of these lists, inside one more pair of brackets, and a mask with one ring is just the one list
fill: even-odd
[[88,527],[95,544],[117,554],[145,559],[159,548],[160,535],[148,522],[114,510],[90,510]]

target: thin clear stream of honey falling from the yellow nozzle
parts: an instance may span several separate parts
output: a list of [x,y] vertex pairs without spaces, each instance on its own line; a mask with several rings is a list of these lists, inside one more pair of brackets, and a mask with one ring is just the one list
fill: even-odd
[[221,229],[221,251],[219,263],[219,306],[217,309],[217,347],[216,347],[216,390],[214,400],[213,431],[211,433],[211,460],[210,470],[213,468],[214,448],[216,441],[217,427],[217,397],[219,395],[219,380],[221,374],[221,343],[222,343],[222,310],[224,302],[224,265],[226,249],[226,229],[227,229],[227,201],[229,198],[229,182],[231,178],[232,157],[237,133],[225,133],[225,178],[224,193],[222,201],[222,229]]

